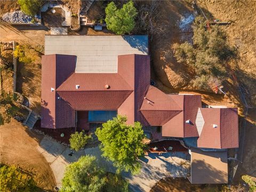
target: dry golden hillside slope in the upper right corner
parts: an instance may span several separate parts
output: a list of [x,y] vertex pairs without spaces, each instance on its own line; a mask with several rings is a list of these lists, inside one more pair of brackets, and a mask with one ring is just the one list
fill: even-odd
[[[205,2],[205,3],[204,3]],[[198,1],[212,18],[222,22],[230,21],[231,25],[222,26],[227,32],[231,45],[238,49],[239,59],[230,63],[235,70],[238,81],[249,91],[251,105],[256,106],[256,1]],[[208,10],[208,11],[207,11]],[[209,14],[209,16],[210,16]]]

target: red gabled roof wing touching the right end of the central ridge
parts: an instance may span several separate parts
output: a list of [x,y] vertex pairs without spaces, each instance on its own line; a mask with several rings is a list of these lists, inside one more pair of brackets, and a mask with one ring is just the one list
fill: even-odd
[[127,123],[134,121],[148,125],[140,107],[150,83],[150,58],[148,55],[119,55],[118,74],[133,88],[134,92],[118,108],[118,114],[127,116]]

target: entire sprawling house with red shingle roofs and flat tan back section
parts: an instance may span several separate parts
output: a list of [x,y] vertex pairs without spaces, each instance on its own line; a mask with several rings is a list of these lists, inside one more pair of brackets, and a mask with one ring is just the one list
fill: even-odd
[[157,126],[163,140],[194,138],[193,147],[202,149],[238,147],[236,108],[202,108],[201,95],[166,94],[150,85],[147,36],[46,36],[41,127],[76,127],[86,116],[82,128],[88,129],[117,114],[126,115],[128,124]]

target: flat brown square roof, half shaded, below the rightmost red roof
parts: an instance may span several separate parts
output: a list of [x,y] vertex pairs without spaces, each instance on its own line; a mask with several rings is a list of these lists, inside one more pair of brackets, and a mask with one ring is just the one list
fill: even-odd
[[227,151],[191,149],[192,184],[228,183]]

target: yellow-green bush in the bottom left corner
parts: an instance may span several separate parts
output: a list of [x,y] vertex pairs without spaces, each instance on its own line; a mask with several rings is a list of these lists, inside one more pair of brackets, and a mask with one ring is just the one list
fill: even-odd
[[33,178],[15,166],[1,164],[1,191],[35,191]]

